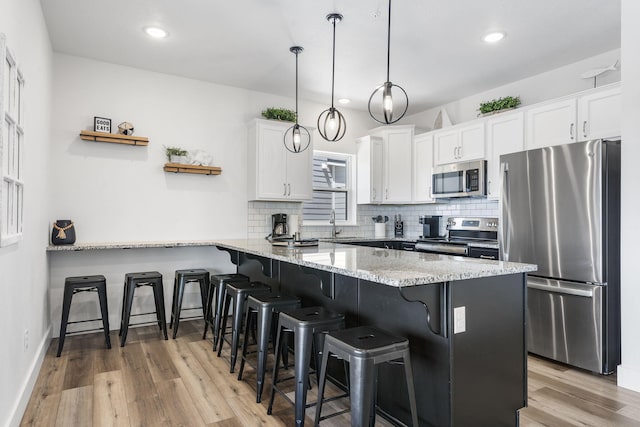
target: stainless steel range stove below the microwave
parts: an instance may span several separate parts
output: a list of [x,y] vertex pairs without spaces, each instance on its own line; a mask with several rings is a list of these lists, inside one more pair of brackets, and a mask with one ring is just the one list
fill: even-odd
[[[474,248],[485,250],[474,251]],[[497,259],[498,218],[449,217],[446,236],[422,236],[416,242],[415,250]]]

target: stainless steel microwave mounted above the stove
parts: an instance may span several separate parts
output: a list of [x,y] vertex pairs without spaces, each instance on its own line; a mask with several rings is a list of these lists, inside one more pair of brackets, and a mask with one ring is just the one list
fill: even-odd
[[486,196],[487,161],[435,166],[431,180],[431,192],[435,198]]

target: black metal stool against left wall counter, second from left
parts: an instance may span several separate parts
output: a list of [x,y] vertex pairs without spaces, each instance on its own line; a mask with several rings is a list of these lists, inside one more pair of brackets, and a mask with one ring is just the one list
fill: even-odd
[[[127,273],[124,275],[124,292],[122,296],[122,316],[120,317],[120,347],[124,347],[127,341],[127,333],[129,332],[131,316],[144,316],[148,313],[131,314],[133,305],[133,295],[140,286],[150,286],[153,289],[153,301],[156,307],[156,319],[160,330],[164,333],[164,339],[167,339],[167,321],[164,310],[164,283],[162,274],[157,271],[145,271],[141,273]],[[142,323],[136,323],[140,325]]]

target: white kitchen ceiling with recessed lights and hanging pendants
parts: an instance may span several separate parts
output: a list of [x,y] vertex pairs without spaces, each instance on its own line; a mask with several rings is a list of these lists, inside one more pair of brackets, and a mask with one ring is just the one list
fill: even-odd
[[[366,109],[386,80],[386,0],[41,0],[56,52],[328,104]],[[392,4],[390,80],[409,113],[620,47],[620,0],[403,0]],[[142,30],[158,25],[163,40]],[[489,45],[492,30],[505,39]],[[602,64],[606,66],[610,64]],[[585,70],[586,71],[586,70]]]

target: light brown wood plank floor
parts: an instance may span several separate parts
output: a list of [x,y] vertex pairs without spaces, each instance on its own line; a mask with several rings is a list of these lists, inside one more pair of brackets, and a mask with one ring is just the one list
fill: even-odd
[[[164,341],[157,327],[129,330],[124,348],[112,332],[113,348],[101,334],[68,337],[62,356],[52,341],[24,414],[23,426],[291,426],[293,407],[276,396],[266,413],[269,380],[255,403],[255,374],[243,381],[229,374],[202,340],[202,321],[183,322],[176,340]],[[224,352],[223,352],[224,356]],[[309,401],[315,399],[315,386]],[[335,391],[334,391],[335,392]],[[487,392],[490,392],[489,390]],[[345,402],[347,404],[348,402]],[[340,407],[332,402],[323,414]],[[313,425],[313,408],[307,424]],[[389,425],[384,420],[376,425]],[[529,406],[521,426],[640,426],[640,393],[601,377],[529,357]],[[349,416],[323,426],[348,426]]]

